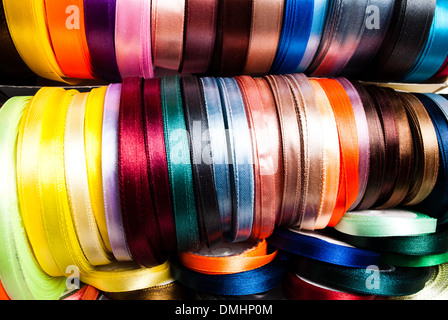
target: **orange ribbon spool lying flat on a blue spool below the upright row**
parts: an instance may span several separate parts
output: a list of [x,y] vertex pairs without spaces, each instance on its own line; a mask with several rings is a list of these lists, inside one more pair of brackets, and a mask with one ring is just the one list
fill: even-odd
[[[228,246],[232,249],[232,246],[235,245],[242,244],[229,244]],[[225,247],[210,248],[212,253],[222,249]],[[277,250],[268,253],[266,240],[261,240],[252,248],[234,255],[206,256],[200,252],[182,252],[179,254],[180,262],[190,270],[209,275],[234,274],[258,269],[273,261],[277,256]]]

